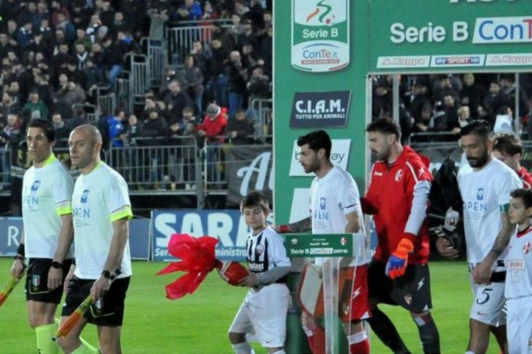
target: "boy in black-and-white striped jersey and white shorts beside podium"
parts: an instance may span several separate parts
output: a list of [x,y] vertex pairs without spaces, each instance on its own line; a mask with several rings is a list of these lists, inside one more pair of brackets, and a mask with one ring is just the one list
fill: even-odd
[[290,300],[286,277],[292,263],[281,236],[266,225],[267,197],[260,192],[249,192],[240,209],[251,228],[246,244],[250,274],[240,285],[251,289],[229,328],[229,340],[236,354],[252,353],[246,334],[256,335],[268,353],[284,354]]

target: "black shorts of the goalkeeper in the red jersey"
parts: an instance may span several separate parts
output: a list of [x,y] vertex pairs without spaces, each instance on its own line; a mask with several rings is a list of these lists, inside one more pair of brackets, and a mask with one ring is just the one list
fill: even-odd
[[402,277],[390,279],[385,273],[386,263],[372,261],[368,270],[368,297],[393,306],[401,306],[411,313],[424,313],[432,308],[430,275],[427,264],[409,264]]

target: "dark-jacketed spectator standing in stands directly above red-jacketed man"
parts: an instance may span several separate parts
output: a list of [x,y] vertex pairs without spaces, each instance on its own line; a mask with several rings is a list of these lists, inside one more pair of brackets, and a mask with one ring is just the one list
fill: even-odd
[[222,46],[219,37],[211,42],[212,57],[207,64],[211,77],[214,101],[220,106],[227,106],[227,75],[225,66],[229,62],[229,52]]

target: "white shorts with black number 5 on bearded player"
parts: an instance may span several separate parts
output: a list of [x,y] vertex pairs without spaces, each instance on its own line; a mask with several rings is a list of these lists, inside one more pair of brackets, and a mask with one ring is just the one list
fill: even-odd
[[506,324],[506,314],[502,310],[506,301],[504,282],[479,285],[473,281],[471,274],[470,282],[474,299],[469,318],[490,326],[504,326]]

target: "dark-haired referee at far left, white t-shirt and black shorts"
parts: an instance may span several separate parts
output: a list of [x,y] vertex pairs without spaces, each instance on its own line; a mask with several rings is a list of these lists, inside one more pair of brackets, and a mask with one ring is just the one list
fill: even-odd
[[35,328],[38,353],[57,353],[51,337],[57,330],[55,310],[62,297],[62,283],[72,262],[73,178],[53,154],[54,129],[48,120],[36,119],[26,131],[33,166],[22,183],[24,233],[11,268],[13,277],[26,277],[28,321]]

